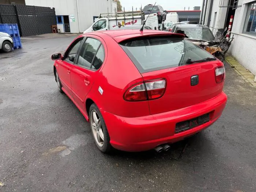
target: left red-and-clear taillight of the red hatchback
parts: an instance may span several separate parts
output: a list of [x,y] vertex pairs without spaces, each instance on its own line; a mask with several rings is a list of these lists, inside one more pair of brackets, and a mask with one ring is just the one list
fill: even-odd
[[130,87],[124,94],[126,101],[147,101],[163,96],[166,88],[165,79],[155,79],[138,83]]

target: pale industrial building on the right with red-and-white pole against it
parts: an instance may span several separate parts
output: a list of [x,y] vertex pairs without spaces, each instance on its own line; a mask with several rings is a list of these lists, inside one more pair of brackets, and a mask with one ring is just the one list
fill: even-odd
[[[233,37],[229,53],[245,68],[256,74],[256,1],[203,0],[200,23],[215,34],[231,25]],[[234,19],[232,19],[234,18]]]

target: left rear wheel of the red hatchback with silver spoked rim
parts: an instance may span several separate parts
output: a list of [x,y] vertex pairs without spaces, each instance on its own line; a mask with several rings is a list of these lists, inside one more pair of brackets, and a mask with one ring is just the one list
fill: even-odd
[[101,112],[94,103],[90,106],[89,120],[91,133],[96,146],[101,152],[110,153],[112,146],[110,145],[108,129]]

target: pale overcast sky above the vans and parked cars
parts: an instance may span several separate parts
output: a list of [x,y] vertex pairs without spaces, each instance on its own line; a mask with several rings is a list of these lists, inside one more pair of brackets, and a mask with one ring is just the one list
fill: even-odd
[[125,11],[131,11],[137,7],[138,10],[142,5],[142,8],[147,4],[162,5],[164,10],[193,10],[195,6],[202,6],[202,0],[120,0],[121,5],[125,8]]

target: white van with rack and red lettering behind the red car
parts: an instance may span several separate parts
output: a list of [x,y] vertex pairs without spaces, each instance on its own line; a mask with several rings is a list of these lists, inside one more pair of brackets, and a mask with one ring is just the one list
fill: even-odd
[[118,25],[143,25],[142,11],[125,11],[114,13],[102,13],[99,18],[83,33],[92,31],[111,30]]

